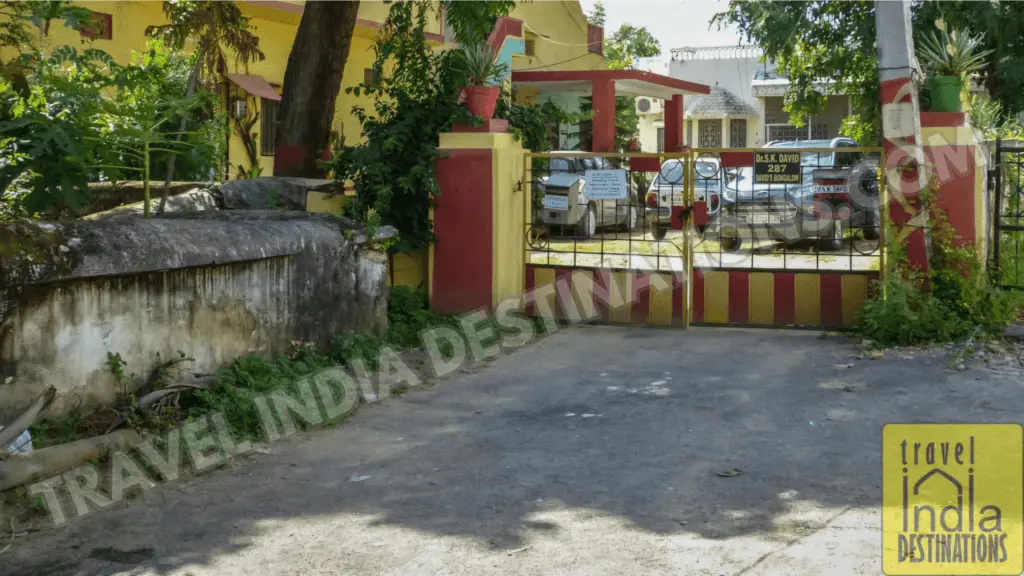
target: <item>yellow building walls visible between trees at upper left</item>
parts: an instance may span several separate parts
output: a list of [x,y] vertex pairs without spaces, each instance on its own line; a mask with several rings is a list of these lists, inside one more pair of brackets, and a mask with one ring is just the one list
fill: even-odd
[[[129,61],[132,51],[144,49],[147,27],[167,24],[162,3],[157,1],[87,1],[80,4],[99,13],[106,23],[104,30],[92,38],[93,47],[105,50],[119,63]],[[273,173],[273,121],[288,56],[302,17],[303,2],[248,1],[238,4],[243,14],[250,18],[250,26],[260,38],[260,50],[266,57],[249,64],[248,69],[230,61],[230,70],[219,88],[229,115],[241,121],[231,122],[231,135],[227,145],[227,173],[233,177],[240,168],[251,168],[238,124],[244,125],[247,117],[254,118],[258,114],[259,120],[253,125],[251,132],[256,134],[254,143],[261,174],[267,176]],[[352,107],[372,109],[372,101],[366,96],[346,94],[345,88],[356,86],[369,77],[375,58],[373,42],[389,8],[390,2],[382,0],[364,0],[359,4],[358,20],[345,65],[334,121],[336,135],[350,145],[361,140],[361,126],[351,113]],[[603,58],[593,53],[594,50],[588,49],[588,43],[592,47],[594,45],[589,40],[594,38],[594,27],[587,24],[578,1],[520,2],[510,16],[523,22],[525,36],[518,39],[518,43],[509,42],[509,46],[504,49],[503,56],[511,59],[513,70],[604,68]],[[433,17],[433,22],[428,24],[428,40],[438,46],[454,44],[453,34],[444,27],[443,16]],[[48,42],[50,45],[76,45],[81,40],[79,33],[71,29],[52,27]],[[537,94],[524,94],[520,100],[536,101]]]

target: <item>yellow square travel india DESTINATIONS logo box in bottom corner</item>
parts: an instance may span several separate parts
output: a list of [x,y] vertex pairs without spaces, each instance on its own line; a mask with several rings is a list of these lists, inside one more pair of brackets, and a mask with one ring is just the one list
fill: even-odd
[[886,574],[1024,572],[1024,428],[889,424],[882,431]]

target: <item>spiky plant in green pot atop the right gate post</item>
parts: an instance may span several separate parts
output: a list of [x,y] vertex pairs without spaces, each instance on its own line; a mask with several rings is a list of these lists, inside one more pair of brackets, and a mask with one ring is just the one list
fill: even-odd
[[925,35],[919,46],[919,56],[928,70],[928,88],[932,112],[961,112],[961,90],[965,75],[985,68],[985,58],[992,50],[982,50],[982,36],[964,31],[947,31],[943,20],[935,22],[939,31]]

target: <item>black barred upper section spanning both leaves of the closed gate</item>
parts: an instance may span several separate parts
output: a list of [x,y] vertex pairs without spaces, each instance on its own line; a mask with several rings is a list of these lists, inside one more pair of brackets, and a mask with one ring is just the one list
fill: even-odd
[[881,149],[531,154],[526,262],[685,272],[878,272]]

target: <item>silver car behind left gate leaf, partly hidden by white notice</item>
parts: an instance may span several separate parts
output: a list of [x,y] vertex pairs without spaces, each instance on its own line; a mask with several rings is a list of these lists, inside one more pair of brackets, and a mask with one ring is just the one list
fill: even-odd
[[622,227],[633,231],[640,225],[640,206],[636,203],[629,174],[621,198],[598,200],[587,195],[587,170],[614,170],[606,158],[560,156],[551,159],[550,173],[534,182],[534,192],[542,196],[535,222],[571,227],[573,236],[593,238],[597,229]]

